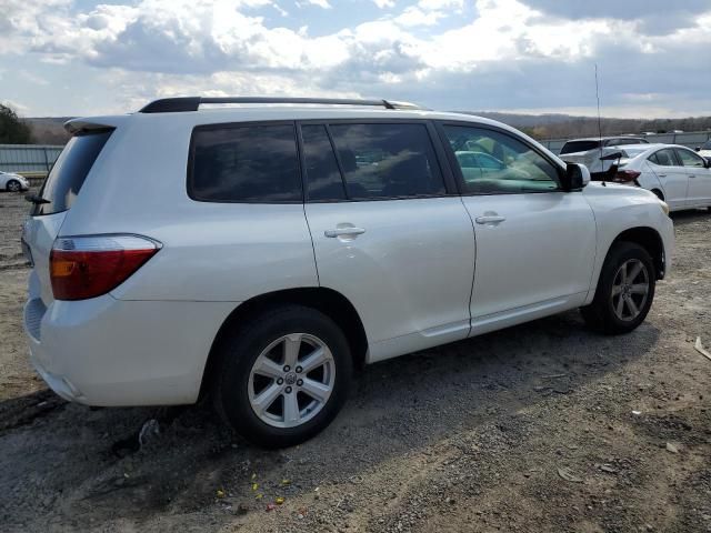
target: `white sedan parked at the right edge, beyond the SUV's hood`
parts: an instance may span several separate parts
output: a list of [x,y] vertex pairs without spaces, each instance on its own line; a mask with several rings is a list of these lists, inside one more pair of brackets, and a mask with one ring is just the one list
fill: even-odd
[[612,181],[637,182],[671,211],[711,208],[711,163],[677,144],[631,144],[608,151],[622,154]]

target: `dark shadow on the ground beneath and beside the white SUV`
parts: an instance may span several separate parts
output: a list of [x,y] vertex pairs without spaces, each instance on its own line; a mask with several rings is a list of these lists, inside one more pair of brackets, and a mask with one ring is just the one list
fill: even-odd
[[[232,495],[234,507],[254,505],[253,473],[264,491],[292,480],[281,487],[288,496],[348,483],[492,419],[515,420],[527,405],[574,398],[590,381],[644,354],[659,334],[645,323],[629,335],[602,336],[568,312],[367,366],[330,428],[281,451],[247,444],[204,404],[90,410],[60,403],[48,416],[0,433],[0,509],[8,510],[9,524],[57,520],[81,529],[89,517],[146,522],[221,505],[218,489]],[[44,394],[21,401],[29,405]],[[8,411],[0,403],[0,413]],[[136,439],[149,419],[159,421],[160,435],[117,453],[116,444]],[[206,531],[233,519],[218,513]]]

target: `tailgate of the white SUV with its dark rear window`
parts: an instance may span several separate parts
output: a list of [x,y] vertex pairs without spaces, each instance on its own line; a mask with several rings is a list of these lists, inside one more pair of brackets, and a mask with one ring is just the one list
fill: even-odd
[[44,305],[53,301],[49,279],[49,255],[64,217],[111,137],[112,129],[81,132],[71,138],[52,167],[29,219],[22,228],[26,253],[33,262],[30,299],[41,298]]

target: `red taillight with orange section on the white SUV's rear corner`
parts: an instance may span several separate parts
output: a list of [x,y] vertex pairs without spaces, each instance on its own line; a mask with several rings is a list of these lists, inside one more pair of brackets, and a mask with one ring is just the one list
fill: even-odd
[[138,235],[60,238],[49,258],[57,300],[84,300],[123,283],[160,250],[160,243]]

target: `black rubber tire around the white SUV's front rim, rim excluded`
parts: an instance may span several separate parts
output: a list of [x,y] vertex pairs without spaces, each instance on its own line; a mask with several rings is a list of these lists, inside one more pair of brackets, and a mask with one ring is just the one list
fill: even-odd
[[[639,314],[632,318],[632,312],[628,306],[627,310],[630,316],[628,316],[627,320],[622,320],[615,313],[612,289],[618,271],[630,260],[640,261],[647,269],[648,293],[643,304],[639,306]],[[633,281],[634,280],[630,281],[630,283],[633,283]],[[610,249],[608,257],[604,260],[602,271],[600,272],[600,280],[598,281],[598,289],[592,303],[584,308],[580,308],[580,312],[582,313],[585,323],[595,331],[609,335],[629,333],[640,325],[647,318],[647,313],[649,313],[652,301],[654,300],[655,285],[657,270],[654,269],[654,261],[652,261],[652,258],[647,250],[633,242],[618,242]],[[620,296],[617,298],[619,303]],[[637,303],[640,303],[639,299]],[[623,305],[627,306],[627,304]]]

